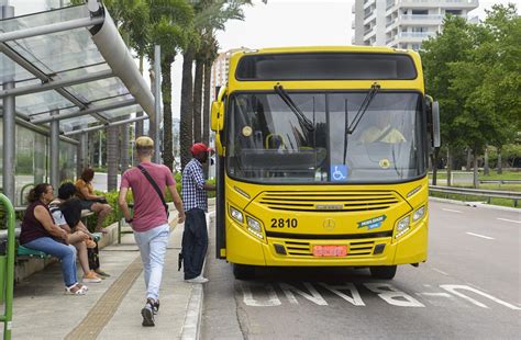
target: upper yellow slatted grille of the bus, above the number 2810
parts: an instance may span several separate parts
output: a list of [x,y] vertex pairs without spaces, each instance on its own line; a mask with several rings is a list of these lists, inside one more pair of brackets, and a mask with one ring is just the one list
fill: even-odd
[[258,202],[288,212],[366,212],[389,208],[400,200],[391,191],[266,191]]

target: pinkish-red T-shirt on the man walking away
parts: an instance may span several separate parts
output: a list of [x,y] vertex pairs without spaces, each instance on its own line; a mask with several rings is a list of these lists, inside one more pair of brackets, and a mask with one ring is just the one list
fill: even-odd
[[[165,186],[176,184],[170,169],[166,166],[153,162],[142,162],[141,166],[148,171],[157,186],[163,190],[163,196],[165,196]],[[168,223],[159,195],[140,169],[126,170],[121,179],[121,188],[132,189],[132,195],[134,196],[132,228],[135,231],[146,231]]]

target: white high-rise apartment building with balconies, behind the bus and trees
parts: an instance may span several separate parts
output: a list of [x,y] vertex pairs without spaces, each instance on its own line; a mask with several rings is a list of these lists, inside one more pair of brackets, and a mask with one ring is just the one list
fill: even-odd
[[446,14],[469,20],[478,5],[478,0],[355,0],[352,44],[419,49],[441,31]]

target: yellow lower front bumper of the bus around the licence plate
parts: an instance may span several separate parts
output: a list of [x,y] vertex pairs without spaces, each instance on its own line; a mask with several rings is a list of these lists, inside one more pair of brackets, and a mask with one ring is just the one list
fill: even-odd
[[[232,263],[273,267],[370,267],[420,263],[426,260],[426,218],[410,231],[392,237],[367,239],[259,240],[231,224],[226,230],[226,260]],[[317,257],[315,246],[346,247],[343,257]]]

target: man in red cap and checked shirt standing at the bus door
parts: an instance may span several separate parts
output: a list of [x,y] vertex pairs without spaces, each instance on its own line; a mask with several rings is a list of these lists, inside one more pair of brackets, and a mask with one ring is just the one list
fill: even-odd
[[211,151],[203,143],[196,143],[190,148],[193,158],[182,170],[182,201],[185,207],[185,231],[182,233],[182,263],[185,281],[190,283],[206,283],[202,276],[202,264],[208,249],[207,217],[208,190],[215,190],[215,185],[204,181],[202,165],[208,161]]

